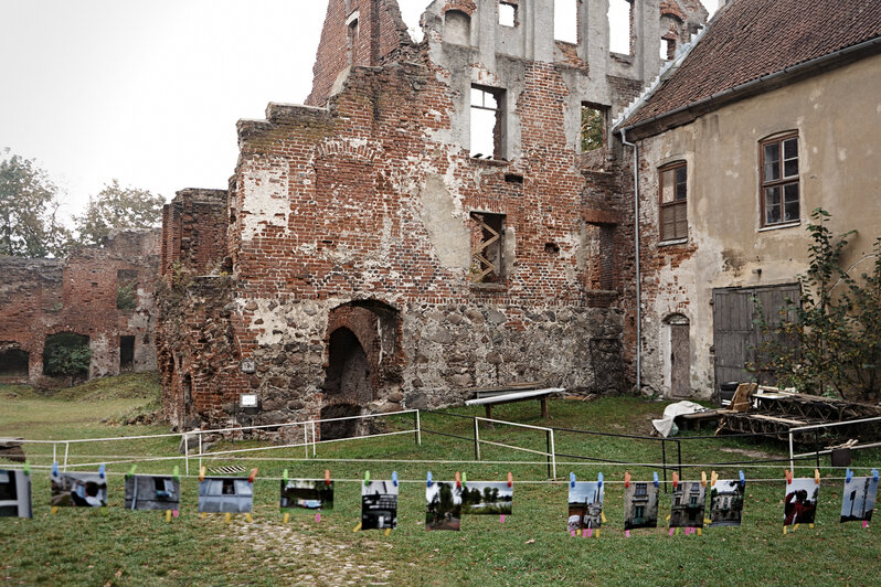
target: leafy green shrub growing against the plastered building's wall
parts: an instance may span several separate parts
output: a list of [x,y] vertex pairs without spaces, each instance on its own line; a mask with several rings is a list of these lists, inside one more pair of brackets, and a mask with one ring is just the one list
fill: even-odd
[[766,318],[757,307],[763,342],[749,367],[803,393],[874,401],[881,391],[881,238],[869,255],[872,271],[855,278],[840,265],[855,232],[836,237],[827,226],[829,213],[820,209],[811,218],[810,263],[798,276],[802,295],[777,317]]

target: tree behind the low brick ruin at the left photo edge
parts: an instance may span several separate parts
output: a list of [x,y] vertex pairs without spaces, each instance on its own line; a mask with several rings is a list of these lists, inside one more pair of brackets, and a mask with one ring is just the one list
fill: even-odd
[[59,222],[59,189],[34,160],[0,151],[0,255],[64,256],[70,232]]

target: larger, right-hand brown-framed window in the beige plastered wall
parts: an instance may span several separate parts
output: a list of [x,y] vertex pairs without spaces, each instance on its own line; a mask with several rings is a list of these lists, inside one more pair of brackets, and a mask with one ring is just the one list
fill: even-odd
[[763,140],[758,150],[762,226],[798,222],[798,134]]

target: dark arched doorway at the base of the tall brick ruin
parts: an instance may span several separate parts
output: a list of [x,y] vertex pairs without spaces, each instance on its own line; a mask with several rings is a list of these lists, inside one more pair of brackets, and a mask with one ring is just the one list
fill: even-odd
[[322,440],[355,436],[360,429],[359,420],[323,420],[358,416],[362,406],[373,401],[368,356],[354,332],[346,327],[331,332],[328,354],[322,387],[327,401],[321,408]]

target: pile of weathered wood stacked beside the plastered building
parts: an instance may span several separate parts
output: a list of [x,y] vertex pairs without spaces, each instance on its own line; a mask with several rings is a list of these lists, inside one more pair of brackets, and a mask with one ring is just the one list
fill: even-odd
[[[788,440],[793,428],[873,417],[881,417],[881,406],[742,383],[731,401],[731,409],[720,410],[717,434],[761,434]],[[827,440],[878,440],[881,439],[881,421],[835,426],[819,431],[796,431],[793,435],[797,442],[814,442],[817,436]]]

